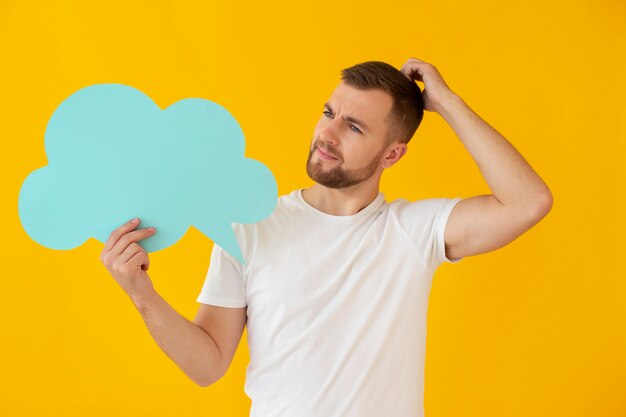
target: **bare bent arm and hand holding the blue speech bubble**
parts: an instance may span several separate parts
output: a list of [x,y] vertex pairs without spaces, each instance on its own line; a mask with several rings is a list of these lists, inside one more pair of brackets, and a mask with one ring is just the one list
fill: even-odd
[[[139,220],[130,221],[115,229],[100,260],[130,296],[161,350],[194,382],[209,386],[228,369],[237,346],[235,342],[239,342],[243,333],[246,310],[205,305],[198,318],[203,327],[178,313],[154,291],[146,273],[150,259],[136,243],[154,235],[156,230],[135,230],[138,225]],[[231,323],[239,325],[231,329]],[[216,340],[228,348],[228,356],[222,356]]]

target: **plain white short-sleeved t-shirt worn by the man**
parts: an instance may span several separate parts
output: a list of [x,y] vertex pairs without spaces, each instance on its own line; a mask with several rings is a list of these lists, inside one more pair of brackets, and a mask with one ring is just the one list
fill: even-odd
[[461,198],[388,203],[352,216],[301,190],[234,223],[246,265],[214,245],[197,301],[247,308],[251,417],[422,417],[426,312]]

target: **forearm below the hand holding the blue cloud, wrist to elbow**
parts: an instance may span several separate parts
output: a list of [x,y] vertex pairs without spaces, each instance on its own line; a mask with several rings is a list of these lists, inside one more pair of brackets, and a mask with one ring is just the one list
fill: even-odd
[[200,326],[174,310],[154,289],[132,301],[161,350],[189,378],[207,386],[222,377],[219,349]]

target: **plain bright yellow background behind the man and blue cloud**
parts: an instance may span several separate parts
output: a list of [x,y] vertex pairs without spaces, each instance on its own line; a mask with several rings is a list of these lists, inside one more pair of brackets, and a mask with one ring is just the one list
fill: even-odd
[[[505,248],[436,273],[426,415],[625,416],[625,50],[618,0],[3,1],[0,415],[247,416],[250,406],[246,333],[225,378],[201,388],[152,340],[100,263],[101,243],[55,251],[21,228],[22,181],[47,163],[46,123],[66,97],[116,82],[162,108],[216,101],[284,194],[312,184],[308,146],[339,71],[416,57],[554,195],[551,213]],[[387,200],[489,192],[434,113],[381,188]],[[211,246],[192,227],[151,256],[155,288],[190,319]]]

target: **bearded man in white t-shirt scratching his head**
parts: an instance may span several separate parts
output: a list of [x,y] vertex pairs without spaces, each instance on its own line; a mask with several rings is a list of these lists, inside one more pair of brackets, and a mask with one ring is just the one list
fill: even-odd
[[[422,92],[415,81],[424,83]],[[381,175],[402,158],[423,111],[440,114],[492,194],[388,203]],[[163,351],[202,386],[227,371],[248,326],[251,416],[423,416],[426,313],[443,262],[500,248],[551,209],[546,184],[515,148],[409,59],[345,69],[315,128],[315,184],[234,224],[246,265],[214,245],[193,322],[153,289],[128,223],[101,259]]]

